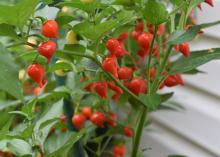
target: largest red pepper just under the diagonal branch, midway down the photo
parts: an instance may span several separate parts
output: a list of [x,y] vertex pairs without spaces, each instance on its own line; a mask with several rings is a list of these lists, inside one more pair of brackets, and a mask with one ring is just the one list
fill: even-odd
[[108,84],[106,82],[97,82],[95,83],[94,89],[96,93],[103,99],[108,98]]

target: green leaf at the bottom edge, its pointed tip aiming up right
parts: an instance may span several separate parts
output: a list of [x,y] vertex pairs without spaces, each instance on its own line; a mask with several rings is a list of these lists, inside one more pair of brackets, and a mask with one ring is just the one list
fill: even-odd
[[70,149],[84,134],[85,130],[78,133],[66,132],[65,134],[52,135],[45,144],[46,157],[57,156]]

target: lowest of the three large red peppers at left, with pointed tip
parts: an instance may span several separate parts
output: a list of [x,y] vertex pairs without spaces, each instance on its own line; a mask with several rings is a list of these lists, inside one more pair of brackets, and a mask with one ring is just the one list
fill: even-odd
[[33,63],[28,67],[27,70],[28,76],[34,80],[40,88],[43,87],[45,80],[45,70],[44,67],[38,63]]

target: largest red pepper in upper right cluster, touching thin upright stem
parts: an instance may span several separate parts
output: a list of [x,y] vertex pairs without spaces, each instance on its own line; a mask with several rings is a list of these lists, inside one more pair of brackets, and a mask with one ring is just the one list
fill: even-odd
[[142,48],[149,49],[152,40],[153,40],[153,35],[151,33],[145,32],[138,37],[137,42]]

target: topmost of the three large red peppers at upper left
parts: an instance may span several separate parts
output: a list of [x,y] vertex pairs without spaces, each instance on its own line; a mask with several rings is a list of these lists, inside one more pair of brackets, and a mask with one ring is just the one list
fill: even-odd
[[45,37],[58,39],[57,22],[54,20],[46,21],[41,28],[41,32]]

